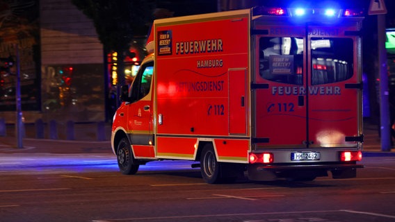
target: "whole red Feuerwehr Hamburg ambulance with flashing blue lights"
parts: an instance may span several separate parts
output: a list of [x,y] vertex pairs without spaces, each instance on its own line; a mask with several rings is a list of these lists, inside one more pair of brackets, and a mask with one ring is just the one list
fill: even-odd
[[257,7],[154,21],[151,54],[113,119],[120,171],[191,160],[208,183],[355,177],[362,19]]

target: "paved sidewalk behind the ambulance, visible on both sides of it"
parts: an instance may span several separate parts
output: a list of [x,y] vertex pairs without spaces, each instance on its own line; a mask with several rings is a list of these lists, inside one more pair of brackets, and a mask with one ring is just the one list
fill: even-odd
[[[6,137],[0,137],[0,153],[112,153],[111,124],[106,124],[106,139],[97,141],[95,123],[76,124],[75,139],[65,139],[64,130],[59,130],[59,139],[35,139],[34,126],[26,125],[24,148],[17,148],[14,126],[7,126]],[[45,137],[48,138],[48,137]],[[395,155],[395,149],[382,152],[378,126],[364,123],[364,155]]]

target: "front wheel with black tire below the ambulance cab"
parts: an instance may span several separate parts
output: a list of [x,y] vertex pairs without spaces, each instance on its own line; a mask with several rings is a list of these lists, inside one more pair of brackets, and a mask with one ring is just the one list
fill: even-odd
[[129,140],[127,138],[122,138],[118,144],[117,160],[118,167],[122,174],[131,175],[137,173],[140,165],[137,164],[134,159]]

